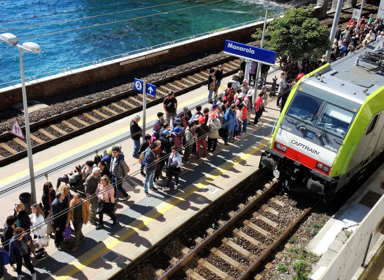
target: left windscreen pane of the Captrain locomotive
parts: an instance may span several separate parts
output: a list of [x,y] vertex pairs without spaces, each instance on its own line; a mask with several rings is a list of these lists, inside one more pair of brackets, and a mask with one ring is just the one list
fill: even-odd
[[322,104],[322,100],[298,91],[286,114],[312,124]]

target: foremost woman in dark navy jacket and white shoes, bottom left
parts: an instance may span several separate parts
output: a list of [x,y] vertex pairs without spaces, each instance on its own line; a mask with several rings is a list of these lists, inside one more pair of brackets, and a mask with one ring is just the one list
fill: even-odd
[[32,280],[36,280],[36,272],[31,263],[30,250],[28,248],[28,245],[32,242],[32,238],[24,231],[24,228],[15,228],[13,231],[13,237],[9,243],[9,255],[12,262],[16,263],[17,280],[22,279],[23,260],[25,266],[31,272]]

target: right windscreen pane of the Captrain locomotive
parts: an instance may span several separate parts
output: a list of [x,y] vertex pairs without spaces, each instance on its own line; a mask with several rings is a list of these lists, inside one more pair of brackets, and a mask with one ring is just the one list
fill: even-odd
[[344,138],[354,115],[353,112],[328,103],[324,107],[316,127],[323,130],[324,133],[329,132],[340,138]]

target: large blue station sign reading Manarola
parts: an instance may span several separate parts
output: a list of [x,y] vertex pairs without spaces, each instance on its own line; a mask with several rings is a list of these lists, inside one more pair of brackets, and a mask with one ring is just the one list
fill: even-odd
[[225,40],[224,52],[235,57],[250,59],[267,65],[275,65],[276,52]]

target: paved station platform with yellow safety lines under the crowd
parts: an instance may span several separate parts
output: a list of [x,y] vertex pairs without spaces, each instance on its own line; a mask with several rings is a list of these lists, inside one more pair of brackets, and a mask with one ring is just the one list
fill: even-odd
[[[272,72],[272,69],[270,70]],[[280,75],[281,71],[271,73],[267,79],[267,87],[271,86],[272,77]],[[222,89],[226,88],[229,77],[223,79]],[[269,92],[269,90],[268,90]],[[195,112],[195,106],[207,100],[207,87],[201,87],[187,94],[177,97],[178,112],[184,106]],[[267,101],[270,97],[267,98]],[[253,101],[254,102],[254,101]],[[210,104],[207,106],[210,107]],[[63,246],[63,251],[57,251],[53,240],[46,248],[46,259],[34,261],[38,279],[108,279],[120,272],[127,264],[141,256],[159,243],[179,225],[187,221],[198,211],[204,209],[209,203],[218,199],[223,193],[230,191],[239,181],[247,178],[249,174],[258,169],[261,150],[270,139],[271,130],[275,119],[280,113],[275,100],[266,104],[263,113],[262,125],[248,126],[250,134],[244,134],[241,140],[223,144],[219,139],[215,153],[209,153],[207,159],[196,159],[191,156],[190,164],[182,166],[179,179],[179,189],[168,192],[159,190],[151,192],[151,197],[146,197],[143,191],[144,178],[138,174],[123,183],[123,188],[131,195],[127,203],[121,202],[118,193],[116,201],[116,216],[119,226],[111,227],[109,217],[104,215],[104,229],[95,230],[95,226],[83,226],[85,242],[79,249],[72,253],[73,236],[70,244]],[[147,126],[152,125],[157,119],[156,113],[163,111],[162,104],[147,109]],[[79,162],[65,164],[70,159],[81,158],[98,147],[111,143],[121,144],[125,160],[131,169],[130,173],[138,171],[140,165],[137,159],[132,158],[133,141],[119,141],[130,134],[129,122],[133,116],[116,121],[108,126],[100,127],[92,132],[61,143],[33,155],[36,179],[37,202],[40,202],[43,184],[48,180],[55,186],[58,177],[74,169],[75,164],[83,164],[89,158],[82,158]],[[142,127],[142,120],[139,122]],[[99,149],[99,154],[103,149]],[[52,168],[56,171],[48,172]],[[8,215],[13,214],[14,204],[22,192],[30,192],[30,185],[23,184],[11,188],[28,178],[28,160],[22,159],[0,169],[0,203],[3,211],[0,220],[5,221]],[[23,275],[29,275],[23,267]],[[16,277],[9,265],[5,266],[5,279]]]

